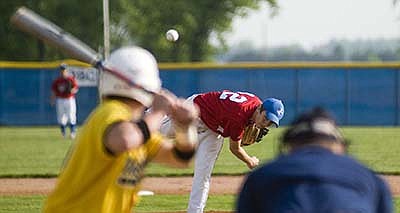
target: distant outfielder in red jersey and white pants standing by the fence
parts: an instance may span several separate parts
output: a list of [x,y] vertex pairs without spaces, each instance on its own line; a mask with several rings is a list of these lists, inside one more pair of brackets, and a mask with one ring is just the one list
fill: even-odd
[[57,122],[61,128],[61,134],[65,137],[66,127],[69,124],[70,137],[76,135],[76,101],[78,84],[75,78],[68,74],[67,65],[60,65],[60,74],[51,85],[51,103],[56,104]]

